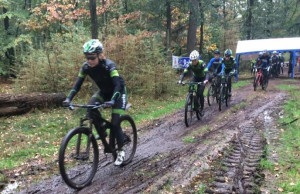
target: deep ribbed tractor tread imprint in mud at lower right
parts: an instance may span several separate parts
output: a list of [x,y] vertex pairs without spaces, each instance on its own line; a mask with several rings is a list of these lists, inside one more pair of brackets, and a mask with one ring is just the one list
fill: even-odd
[[241,126],[231,141],[222,167],[214,173],[214,181],[207,193],[256,193],[261,182],[258,172],[263,156],[264,137],[250,121]]

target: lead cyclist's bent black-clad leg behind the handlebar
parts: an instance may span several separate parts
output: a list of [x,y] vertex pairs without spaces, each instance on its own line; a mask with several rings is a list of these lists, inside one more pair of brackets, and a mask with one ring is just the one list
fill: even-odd
[[[99,103],[103,103],[104,102],[104,98],[103,96],[101,95],[100,91],[96,92],[92,98],[90,99],[90,101],[88,102],[88,104],[90,105],[93,105],[95,104],[96,102],[99,102]],[[101,113],[99,112],[98,109],[88,109],[87,111],[87,117],[88,118],[91,118],[93,119],[93,124],[95,125],[95,128],[97,130],[97,132],[99,133],[99,135],[101,137],[105,137],[106,136],[106,132],[101,130],[101,125],[102,125],[102,122],[101,122]]]

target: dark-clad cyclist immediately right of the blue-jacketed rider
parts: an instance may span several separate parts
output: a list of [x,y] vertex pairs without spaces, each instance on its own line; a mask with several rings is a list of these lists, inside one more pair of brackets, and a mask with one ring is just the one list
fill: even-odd
[[228,95],[231,96],[231,76],[235,74],[236,71],[236,62],[235,59],[232,56],[232,50],[226,49],[224,52],[224,59],[222,61],[222,70],[220,72],[220,75],[223,75],[224,73],[226,75],[229,75],[228,79]]

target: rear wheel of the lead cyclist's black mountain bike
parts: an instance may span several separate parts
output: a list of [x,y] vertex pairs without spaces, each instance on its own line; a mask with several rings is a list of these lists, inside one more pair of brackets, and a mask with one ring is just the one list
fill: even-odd
[[125,159],[122,166],[130,163],[134,157],[137,147],[137,130],[133,119],[129,115],[123,115],[120,119],[120,125],[124,133]]

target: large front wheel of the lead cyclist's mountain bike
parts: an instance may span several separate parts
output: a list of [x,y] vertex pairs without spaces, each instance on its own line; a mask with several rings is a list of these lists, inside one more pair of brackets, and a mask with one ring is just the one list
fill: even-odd
[[98,162],[98,145],[89,129],[78,127],[69,131],[59,150],[59,170],[66,184],[74,189],[89,185]]

